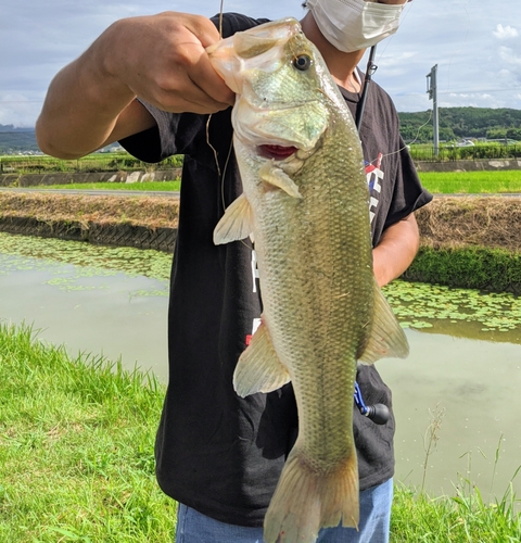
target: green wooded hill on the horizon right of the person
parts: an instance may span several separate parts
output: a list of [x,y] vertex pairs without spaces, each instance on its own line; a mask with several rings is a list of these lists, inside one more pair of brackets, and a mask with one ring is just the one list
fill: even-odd
[[[521,110],[491,108],[439,108],[440,140],[460,138],[521,141]],[[432,141],[432,111],[398,113],[399,131],[407,143]]]

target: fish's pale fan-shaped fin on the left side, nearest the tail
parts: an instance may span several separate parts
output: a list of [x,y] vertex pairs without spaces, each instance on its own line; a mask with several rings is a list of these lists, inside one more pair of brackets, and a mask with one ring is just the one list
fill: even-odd
[[280,389],[289,381],[290,375],[275,351],[266,325],[262,323],[237,363],[233,388],[245,397],[255,392]]

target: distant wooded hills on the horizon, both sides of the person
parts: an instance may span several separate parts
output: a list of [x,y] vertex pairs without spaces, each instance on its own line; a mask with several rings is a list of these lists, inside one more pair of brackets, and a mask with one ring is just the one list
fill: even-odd
[[[407,143],[432,142],[432,112],[398,113],[399,131]],[[461,138],[521,141],[521,110],[492,108],[440,108],[440,140]],[[0,125],[0,154],[38,152],[34,128]]]

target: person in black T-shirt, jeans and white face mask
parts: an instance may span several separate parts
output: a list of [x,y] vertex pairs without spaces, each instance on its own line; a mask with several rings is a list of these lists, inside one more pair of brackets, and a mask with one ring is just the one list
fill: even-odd
[[[364,79],[357,65],[367,47],[396,30],[405,1],[308,0],[303,31],[353,115]],[[223,36],[264,22],[225,14]],[[234,96],[205,52],[220,38],[218,26],[218,16],[175,12],[117,21],[54,77],[36,126],[40,149],[62,159],[114,141],[145,162],[185,155],[170,278],[169,381],[155,444],[158,483],[180,504],[177,543],[262,542],[263,519],[297,432],[291,383],[245,399],[232,388],[262,300],[251,242],[213,243],[224,209],[242,192],[231,146]],[[383,286],[414,260],[414,212],[431,195],[399,136],[395,108],[376,84],[359,132],[371,190],[373,269]],[[391,416],[379,426],[355,409],[360,523],[358,531],[322,529],[321,542],[389,539],[391,391],[372,366],[359,368],[357,382],[366,404],[383,403]]]

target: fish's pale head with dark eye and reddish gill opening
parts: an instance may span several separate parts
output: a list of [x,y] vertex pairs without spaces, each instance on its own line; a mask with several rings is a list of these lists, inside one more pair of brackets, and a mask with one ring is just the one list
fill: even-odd
[[250,156],[302,162],[320,147],[332,122],[332,83],[295,18],[237,33],[207,52],[237,94],[234,139]]

